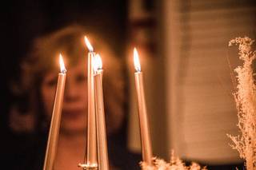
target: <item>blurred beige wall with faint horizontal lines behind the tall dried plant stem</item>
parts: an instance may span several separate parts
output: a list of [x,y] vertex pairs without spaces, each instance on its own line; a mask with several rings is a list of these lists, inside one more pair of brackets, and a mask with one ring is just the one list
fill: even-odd
[[169,148],[208,164],[241,161],[226,136],[238,133],[230,78],[238,56],[228,42],[255,39],[254,1],[165,0],[163,6]]

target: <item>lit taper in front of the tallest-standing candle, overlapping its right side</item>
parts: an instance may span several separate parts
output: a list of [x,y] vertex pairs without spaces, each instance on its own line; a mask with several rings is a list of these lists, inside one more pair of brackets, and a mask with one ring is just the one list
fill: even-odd
[[109,160],[106,142],[106,122],[102,91],[102,59],[97,54],[94,57],[94,88],[96,106],[97,144],[98,144],[98,169],[108,170]]

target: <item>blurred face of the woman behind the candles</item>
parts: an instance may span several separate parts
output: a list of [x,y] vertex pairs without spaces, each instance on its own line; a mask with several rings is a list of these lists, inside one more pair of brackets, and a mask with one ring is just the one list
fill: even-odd
[[[87,124],[86,63],[82,60],[67,68],[62,105],[62,132],[84,132]],[[42,81],[42,101],[50,120],[58,81],[57,73],[47,73]]]

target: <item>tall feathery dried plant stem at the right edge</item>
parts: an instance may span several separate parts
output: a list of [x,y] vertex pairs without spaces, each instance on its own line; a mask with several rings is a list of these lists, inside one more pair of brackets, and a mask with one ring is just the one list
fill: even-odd
[[228,136],[234,142],[231,147],[237,149],[240,157],[246,160],[248,170],[256,168],[256,86],[252,67],[256,51],[251,49],[253,43],[250,38],[235,38],[230,41],[230,45],[239,45],[239,59],[243,61],[241,66],[234,69],[238,81],[234,99],[238,109],[238,128],[242,136]]

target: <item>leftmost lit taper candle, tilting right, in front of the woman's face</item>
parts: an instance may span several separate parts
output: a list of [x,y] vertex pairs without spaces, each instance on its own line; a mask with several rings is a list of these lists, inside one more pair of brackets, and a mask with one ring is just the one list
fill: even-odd
[[61,73],[58,73],[58,84],[54,100],[54,109],[50,122],[50,132],[48,136],[46,156],[43,167],[44,170],[54,169],[54,159],[56,156],[58,145],[59,126],[62,116],[62,101],[66,81],[66,69],[62,59],[62,54],[59,55],[59,63],[61,67]]

